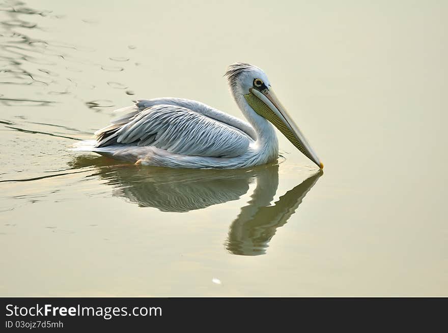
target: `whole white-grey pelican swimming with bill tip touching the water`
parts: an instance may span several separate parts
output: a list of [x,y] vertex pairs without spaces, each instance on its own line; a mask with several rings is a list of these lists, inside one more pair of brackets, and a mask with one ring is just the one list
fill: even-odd
[[307,158],[323,168],[294,120],[278,101],[266,74],[235,63],[225,76],[244,122],[204,103],[180,98],[137,100],[124,115],[81,141],[75,150],[135,164],[195,169],[237,169],[275,161],[274,125]]

